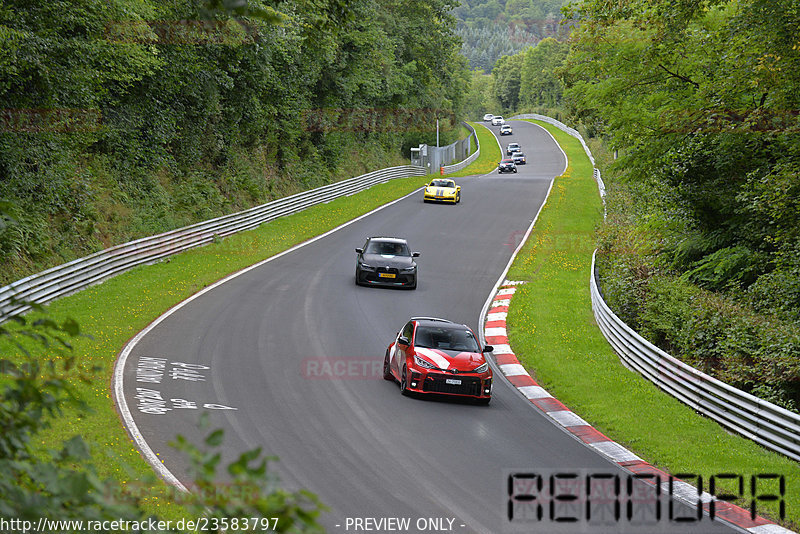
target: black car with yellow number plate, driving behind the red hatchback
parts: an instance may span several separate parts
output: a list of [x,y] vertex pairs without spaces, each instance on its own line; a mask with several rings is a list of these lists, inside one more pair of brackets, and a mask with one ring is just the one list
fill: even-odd
[[356,284],[417,288],[419,252],[411,252],[405,239],[369,237],[356,253]]

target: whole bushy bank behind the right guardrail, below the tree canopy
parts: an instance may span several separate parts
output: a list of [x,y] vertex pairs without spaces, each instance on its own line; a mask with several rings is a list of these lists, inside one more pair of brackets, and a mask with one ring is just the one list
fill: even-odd
[[[606,302],[646,339],[689,365],[787,409],[800,408],[800,321],[795,251],[756,277],[763,253],[718,248],[692,233],[657,186],[607,181],[598,230]],[[751,285],[748,286],[753,280]],[[774,303],[768,306],[767,303]]]

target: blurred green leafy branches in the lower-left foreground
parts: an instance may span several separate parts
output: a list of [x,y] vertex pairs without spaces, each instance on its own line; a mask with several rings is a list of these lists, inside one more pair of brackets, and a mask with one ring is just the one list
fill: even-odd
[[[69,319],[56,323],[43,307],[32,306],[37,318],[17,316],[10,318],[10,323],[0,324],[0,338],[10,339],[25,355],[23,361],[0,358],[0,516],[33,525],[43,517],[61,521],[158,521],[161,518],[147,514],[142,505],[148,488],[160,484],[155,475],[138,480],[137,488],[101,480],[89,447],[80,436],[65,440],[60,450],[37,448],[36,438],[47,431],[53,417],[61,416],[67,407],[79,414],[87,409],[74,394],[71,381],[96,378],[95,370],[83,369],[71,355],[69,340],[81,335],[79,325]],[[26,348],[31,343],[44,347],[50,356],[44,360],[32,356]],[[221,430],[210,432],[200,446],[181,436],[176,438],[177,448],[189,458],[194,484],[191,494],[175,492],[172,497],[191,517],[229,522],[278,518],[277,524],[269,523],[270,530],[321,531],[316,522],[321,504],[316,496],[281,489],[268,472],[268,459],[260,449],[245,452],[229,464],[227,476],[232,482],[219,484],[221,454],[217,449],[222,439]],[[73,529],[64,526],[63,530],[49,531]]]

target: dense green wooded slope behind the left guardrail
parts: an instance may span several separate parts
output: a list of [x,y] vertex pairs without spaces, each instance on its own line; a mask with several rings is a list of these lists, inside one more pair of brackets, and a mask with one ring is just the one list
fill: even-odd
[[434,121],[395,117],[462,113],[452,8],[2,0],[0,199],[19,224],[0,233],[0,282],[432,140]]

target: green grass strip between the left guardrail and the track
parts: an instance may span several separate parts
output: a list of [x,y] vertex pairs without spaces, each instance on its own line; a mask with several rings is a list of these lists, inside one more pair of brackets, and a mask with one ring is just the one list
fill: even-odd
[[[60,449],[74,435],[82,436],[93,450],[98,474],[123,484],[151,480],[142,502],[145,509],[167,519],[179,519],[182,509],[167,497],[164,484],[152,479],[152,470],[139,456],[120,423],[111,400],[111,375],[117,354],[127,341],[166,310],[224,276],[273,256],[322,234],[391,200],[421,187],[426,177],[392,180],[350,197],[314,206],[282,217],[258,229],[225,238],[150,266],[137,267],[65,297],[48,306],[49,316],[75,319],[93,339],[76,339],[74,356],[85,369],[102,370],[91,383],[68,377],[90,413],[65,413],[52,421],[37,446]],[[30,346],[33,356],[44,351]],[[22,358],[8,341],[0,342],[0,354]],[[141,493],[141,488],[137,488]]]

